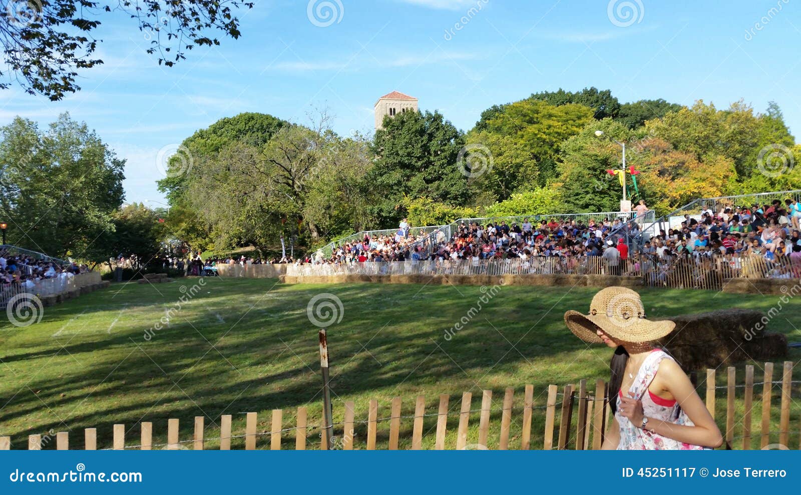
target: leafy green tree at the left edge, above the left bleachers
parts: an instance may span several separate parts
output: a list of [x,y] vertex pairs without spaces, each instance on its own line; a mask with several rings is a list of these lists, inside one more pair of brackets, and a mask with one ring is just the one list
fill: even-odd
[[85,123],[61,114],[46,132],[14,118],[0,128],[0,208],[8,242],[83,257],[123,202],[125,161]]

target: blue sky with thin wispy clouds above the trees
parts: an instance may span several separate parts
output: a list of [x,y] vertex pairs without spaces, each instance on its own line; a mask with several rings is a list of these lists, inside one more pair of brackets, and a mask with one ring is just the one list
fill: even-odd
[[172,68],[145,53],[148,35],[133,21],[105,18],[106,63],[82,74],[83,90],[62,102],[0,90],[0,124],[21,115],[44,126],[69,111],[127,159],[128,202],[163,201],[159,161],[219,118],[252,111],[306,123],[327,108],[341,134],[372,133],[372,106],[392,90],[463,130],[497,103],[596,86],[622,102],[743,98],[761,111],[775,101],[801,132],[795,0],[255,2],[239,11],[239,40],[191,50]]

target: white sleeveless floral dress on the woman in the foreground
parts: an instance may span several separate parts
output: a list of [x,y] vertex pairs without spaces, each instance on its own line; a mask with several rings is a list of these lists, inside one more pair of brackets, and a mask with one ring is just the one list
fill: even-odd
[[[670,421],[676,425],[694,426],[690,417],[678,406],[675,400],[668,401],[651,393],[648,386],[654,380],[662,359],[673,359],[662,349],[654,349],[646,360],[642,362],[637,376],[629,389],[630,397],[633,395],[642,401],[642,410],[646,417],[659,421]],[[618,450],[702,450],[698,445],[686,444],[672,438],[662,437],[657,433],[646,431],[633,425],[629,418],[620,414],[620,399],[622,390],[618,396],[618,413],[614,417],[620,425],[620,442]]]

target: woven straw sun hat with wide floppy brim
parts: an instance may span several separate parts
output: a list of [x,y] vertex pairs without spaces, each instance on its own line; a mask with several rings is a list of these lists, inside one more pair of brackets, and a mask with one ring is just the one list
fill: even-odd
[[650,342],[665,337],[676,324],[673,321],[646,320],[640,295],[626,287],[606,287],[590,302],[590,314],[570,310],[565,313],[567,328],[582,341],[602,343],[596,328],[623,342]]

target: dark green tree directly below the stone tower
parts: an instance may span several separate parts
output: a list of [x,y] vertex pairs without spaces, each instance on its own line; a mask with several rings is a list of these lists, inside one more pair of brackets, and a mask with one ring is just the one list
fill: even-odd
[[458,166],[465,136],[439,112],[404,112],[384,117],[372,143],[376,159],[368,182],[376,191],[376,218],[395,226],[406,214],[405,195],[434,202],[464,205],[467,177]]

